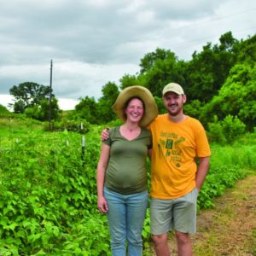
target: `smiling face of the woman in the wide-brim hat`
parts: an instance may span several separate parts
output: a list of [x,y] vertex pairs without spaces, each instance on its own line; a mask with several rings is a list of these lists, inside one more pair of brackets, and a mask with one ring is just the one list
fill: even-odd
[[131,99],[125,109],[127,120],[131,122],[139,122],[143,118],[144,108],[143,102],[137,98]]

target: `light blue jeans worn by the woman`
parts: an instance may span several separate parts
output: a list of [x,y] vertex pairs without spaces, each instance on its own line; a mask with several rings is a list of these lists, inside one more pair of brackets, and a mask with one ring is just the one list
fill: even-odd
[[143,254],[143,222],[148,207],[148,191],[137,194],[122,195],[104,188],[108,201],[108,226],[111,236],[113,256]]

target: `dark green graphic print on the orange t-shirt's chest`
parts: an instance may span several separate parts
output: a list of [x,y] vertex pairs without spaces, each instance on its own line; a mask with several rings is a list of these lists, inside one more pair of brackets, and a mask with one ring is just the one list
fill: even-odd
[[177,167],[181,166],[184,137],[178,137],[177,133],[160,131],[158,142],[159,157],[164,156],[166,160],[173,162]]

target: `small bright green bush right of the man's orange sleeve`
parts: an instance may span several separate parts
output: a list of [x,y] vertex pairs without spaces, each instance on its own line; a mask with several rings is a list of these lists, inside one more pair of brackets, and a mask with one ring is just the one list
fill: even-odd
[[208,124],[208,137],[210,141],[220,144],[232,144],[237,137],[244,134],[246,125],[236,116],[230,114],[222,121],[218,121],[218,117],[214,116],[214,123]]

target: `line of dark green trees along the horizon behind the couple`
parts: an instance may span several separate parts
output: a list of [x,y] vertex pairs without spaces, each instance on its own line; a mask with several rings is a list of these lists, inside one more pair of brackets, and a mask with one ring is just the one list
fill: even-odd
[[[96,125],[116,119],[111,106],[119,91],[131,85],[147,87],[160,113],[164,113],[161,91],[166,84],[176,82],[182,84],[188,97],[185,113],[200,119],[215,136],[225,129],[232,133],[230,126],[238,133],[253,131],[256,126],[255,61],[256,34],[246,40],[237,40],[232,32],[226,32],[218,44],[207,43],[201,52],[195,51],[189,61],[179,60],[170,49],[157,48],[143,56],[137,74],[125,73],[119,84],[109,81],[103,85],[98,101],[94,97],[81,97],[67,118],[84,119]],[[9,90],[15,96],[14,112],[46,120],[49,90],[49,86],[31,82],[15,85]],[[54,95],[51,109],[53,119],[60,119],[61,111]],[[218,140],[224,138],[219,135]]]

